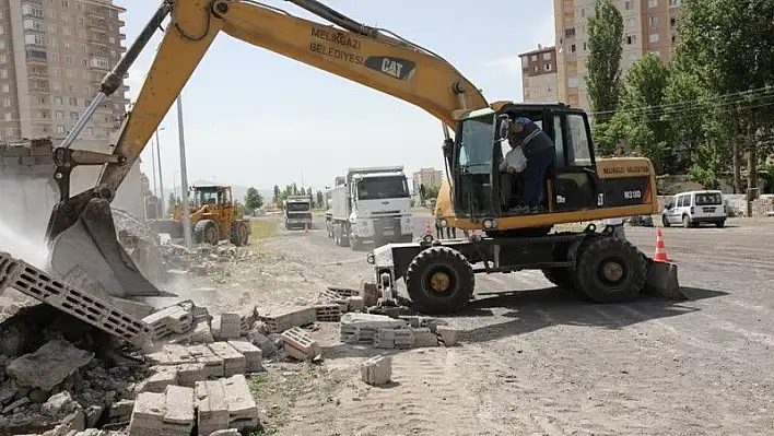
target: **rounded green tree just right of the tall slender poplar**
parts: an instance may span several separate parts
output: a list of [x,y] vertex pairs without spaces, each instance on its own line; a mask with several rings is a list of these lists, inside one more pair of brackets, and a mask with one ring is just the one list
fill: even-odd
[[668,123],[659,109],[668,80],[669,68],[661,58],[647,54],[637,60],[626,73],[615,122],[610,127],[618,129],[632,151],[648,157],[657,174],[676,169]]

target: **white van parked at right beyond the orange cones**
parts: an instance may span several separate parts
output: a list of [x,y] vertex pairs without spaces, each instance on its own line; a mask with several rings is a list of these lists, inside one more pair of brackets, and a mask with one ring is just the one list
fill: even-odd
[[683,227],[696,227],[702,223],[726,225],[726,205],[720,191],[680,192],[669,200],[661,212],[665,227],[682,224]]

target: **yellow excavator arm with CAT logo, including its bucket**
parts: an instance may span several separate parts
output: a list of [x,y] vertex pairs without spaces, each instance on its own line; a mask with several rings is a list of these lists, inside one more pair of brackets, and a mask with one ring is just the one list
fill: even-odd
[[[456,126],[456,110],[488,106],[480,91],[442,57],[387,31],[350,20],[317,0],[288,1],[339,27],[253,0],[165,0],[159,7],[55,151],[55,178],[62,198],[46,235],[55,270],[67,275],[86,269],[91,275],[102,276],[106,288],[118,288],[117,296],[157,293],[117,240],[107,239],[115,233],[109,202],[220,32],[417,105],[443,122],[447,139],[446,127]],[[113,153],[92,153],[89,160],[79,160],[77,151],[70,150],[78,133],[98,104],[120,86],[131,63],[168,15],[169,24]],[[222,78],[224,82],[228,79]],[[69,177],[62,174],[79,164],[103,165],[103,170],[93,189],[69,197]],[[80,256],[73,256],[72,250]],[[99,266],[84,267],[90,263]]]

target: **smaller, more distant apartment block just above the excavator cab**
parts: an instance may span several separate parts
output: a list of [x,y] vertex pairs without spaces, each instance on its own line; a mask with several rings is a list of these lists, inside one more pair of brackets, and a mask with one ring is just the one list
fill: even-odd
[[521,93],[525,103],[556,103],[556,47],[543,47],[524,52],[521,59]]

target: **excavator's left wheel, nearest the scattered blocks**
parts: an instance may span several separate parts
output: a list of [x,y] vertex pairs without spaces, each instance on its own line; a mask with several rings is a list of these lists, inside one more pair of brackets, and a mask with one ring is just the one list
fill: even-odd
[[476,286],[473,267],[459,251],[431,247],[406,272],[406,288],[418,311],[445,315],[462,310]]

